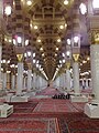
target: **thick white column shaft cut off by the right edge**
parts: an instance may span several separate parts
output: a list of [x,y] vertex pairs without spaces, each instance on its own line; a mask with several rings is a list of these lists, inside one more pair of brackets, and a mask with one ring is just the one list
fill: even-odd
[[90,47],[92,93],[99,100],[99,44]]

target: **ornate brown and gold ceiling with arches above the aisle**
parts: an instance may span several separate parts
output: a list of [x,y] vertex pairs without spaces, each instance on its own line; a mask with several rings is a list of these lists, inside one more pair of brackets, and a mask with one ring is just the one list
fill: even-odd
[[[77,2],[78,1],[78,2]],[[12,6],[11,16],[3,14],[1,33],[2,35],[2,60],[10,60],[8,70],[11,64],[18,64],[15,47],[9,41],[18,33],[30,40],[29,45],[24,47],[24,52],[32,51],[35,57],[32,60],[38,61],[45,74],[50,80],[53,79],[59,60],[66,60],[66,39],[68,32],[73,30],[73,12],[75,2],[79,6],[80,0],[69,0],[64,4],[64,0],[31,0],[32,4],[28,6],[28,0],[3,0],[3,8],[7,4]],[[80,24],[80,71],[90,70],[89,42],[86,28],[86,17],[79,16]],[[31,61],[32,61],[31,60]],[[86,60],[88,63],[82,63]],[[28,70],[28,60],[24,58],[24,69]],[[66,63],[66,62],[65,62]],[[59,73],[66,69],[65,63],[59,68]],[[33,71],[40,73],[36,64],[33,63]],[[2,66],[6,68],[2,63]],[[35,68],[35,69],[34,69]]]

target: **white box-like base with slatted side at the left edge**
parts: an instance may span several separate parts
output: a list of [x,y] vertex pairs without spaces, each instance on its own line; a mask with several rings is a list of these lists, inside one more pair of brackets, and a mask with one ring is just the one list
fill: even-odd
[[0,117],[8,117],[13,113],[13,105],[1,104],[0,105]]

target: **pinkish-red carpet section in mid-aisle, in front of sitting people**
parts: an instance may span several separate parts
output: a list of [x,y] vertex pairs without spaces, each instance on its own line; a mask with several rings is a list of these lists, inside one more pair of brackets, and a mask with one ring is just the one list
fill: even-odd
[[66,100],[51,100],[40,102],[33,112],[78,112],[69,101]]

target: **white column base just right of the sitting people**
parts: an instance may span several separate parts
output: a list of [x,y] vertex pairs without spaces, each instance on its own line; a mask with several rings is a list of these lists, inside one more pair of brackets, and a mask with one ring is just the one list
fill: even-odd
[[74,95],[70,95],[70,101],[72,102],[88,102],[88,98],[86,95],[74,94]]

